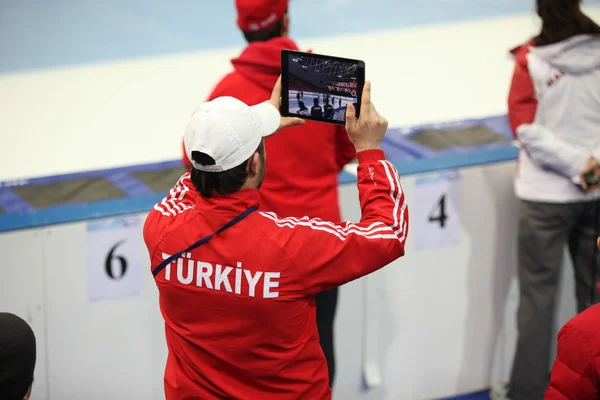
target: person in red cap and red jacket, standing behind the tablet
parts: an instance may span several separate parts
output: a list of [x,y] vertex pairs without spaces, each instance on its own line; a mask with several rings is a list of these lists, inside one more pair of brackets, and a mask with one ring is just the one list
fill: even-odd
[[[208,100],[232,96],[253,105],[267,100],[281,73],[281,50],[298,50],[288,37],[288,0],[236,0],[237,23],[248,41],[232,60],[233,72],[214,88]],[[341,220],[338,174],[355,157],[343,127],[308,121],[265,139],[269,166],[260,189],[261,209],[280,215]],[[190,168],[185,155],[184,163]],[[316,296],[317,326],[321,347],[335,375],[333,323],[338,289]]]

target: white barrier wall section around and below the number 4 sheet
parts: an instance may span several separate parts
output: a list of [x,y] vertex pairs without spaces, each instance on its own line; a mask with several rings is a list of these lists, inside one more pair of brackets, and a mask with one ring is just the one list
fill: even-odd
[[[368,278],[376,295],[369,299],[367,312],[377,310],[381,322],[367,340],[379,343],[376,356],[390,399],[468,393],[492,381],[515,268],[513,163],[461,172],[462,209],[448,211],[449,219],[460,220],[460,243],[418,251],[413,230],[407,256],[396,267]],[[413,209],[418,206],[414,182],[404,179]],[[432,202],[425,207],[434,206]],[[412,217],[413,227],[431,225],[425,218]],[[438,229],[434,225],[430,233]]]

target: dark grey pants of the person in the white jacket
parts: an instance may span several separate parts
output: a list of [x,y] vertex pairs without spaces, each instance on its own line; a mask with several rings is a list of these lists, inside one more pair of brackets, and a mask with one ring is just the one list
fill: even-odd
[[521,201],[519,207],[519,337],[508,397],[542,400],[548,386],[556,297],[565,246],[573,262],[577,310],[596,301],[597,202]]

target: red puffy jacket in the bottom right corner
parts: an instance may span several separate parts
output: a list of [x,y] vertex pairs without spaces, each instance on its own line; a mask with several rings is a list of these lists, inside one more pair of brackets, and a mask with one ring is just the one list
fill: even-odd
[[600,304],[576,315],[558,334],[558,352],[544,399],[600,396]]

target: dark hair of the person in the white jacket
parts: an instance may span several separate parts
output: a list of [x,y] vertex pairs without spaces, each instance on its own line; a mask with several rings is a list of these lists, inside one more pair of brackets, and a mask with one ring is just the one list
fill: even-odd
[[559,43],[576,35],[600,35],[600,26],[585,15],[581,0],[537,0],[542,31],[534,38],[536,46]]

